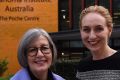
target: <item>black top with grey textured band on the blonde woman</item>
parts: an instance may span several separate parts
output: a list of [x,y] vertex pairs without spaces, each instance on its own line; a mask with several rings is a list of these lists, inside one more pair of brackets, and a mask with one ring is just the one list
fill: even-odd
[[92,57],[80,61],[78,80],[120,80],[120,52],[101,60]]

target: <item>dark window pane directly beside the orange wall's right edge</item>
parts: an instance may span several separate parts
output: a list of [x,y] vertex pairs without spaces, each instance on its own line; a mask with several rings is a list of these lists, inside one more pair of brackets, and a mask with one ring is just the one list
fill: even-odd
[[59,0],[59,31],[69,30],[69,0]]

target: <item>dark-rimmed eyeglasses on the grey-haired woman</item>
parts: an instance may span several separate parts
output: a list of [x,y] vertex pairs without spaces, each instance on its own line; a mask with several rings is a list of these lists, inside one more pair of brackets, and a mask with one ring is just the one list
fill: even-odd
[[42,47],[30,47],[27,49],[28,56],[36,56],[38,53],[38,50],[40,50],[43,54],[49,54],[51,52],[50,47],[48,46],[42,46]]

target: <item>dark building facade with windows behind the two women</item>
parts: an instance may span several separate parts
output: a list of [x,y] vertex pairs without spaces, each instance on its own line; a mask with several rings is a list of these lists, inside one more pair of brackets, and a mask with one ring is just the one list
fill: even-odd
[[120,34],[120,0],[59,0],[58,5],[58,32],[50,33],[58,50],[56,70],[67,80],[75,80],[78,62],[90,55],[80,38],[80,12],[90,5],[108,8],[114,23],[109,45],[120,50],[120,36],[118,35]]

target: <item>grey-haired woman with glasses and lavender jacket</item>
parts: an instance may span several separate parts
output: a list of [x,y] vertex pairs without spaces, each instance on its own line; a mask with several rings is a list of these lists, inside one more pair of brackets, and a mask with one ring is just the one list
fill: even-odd
[[28,30],[18,47],[18,61],[23,68],[10,80],[65,80],[50,70],[56,56],[56,47],[45,30]]

